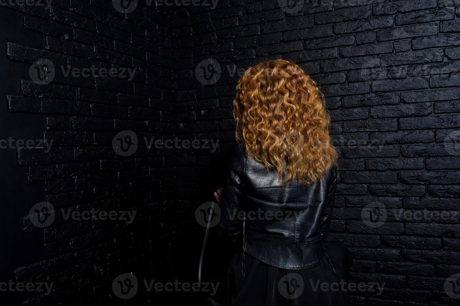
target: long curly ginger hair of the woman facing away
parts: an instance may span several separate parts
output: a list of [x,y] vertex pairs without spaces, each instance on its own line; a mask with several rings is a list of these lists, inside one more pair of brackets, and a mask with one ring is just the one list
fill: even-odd
[[283,184],[314,183],[337,165],[324,95],[297,64],[277,59],[247,69],[233,107],[236,140]]

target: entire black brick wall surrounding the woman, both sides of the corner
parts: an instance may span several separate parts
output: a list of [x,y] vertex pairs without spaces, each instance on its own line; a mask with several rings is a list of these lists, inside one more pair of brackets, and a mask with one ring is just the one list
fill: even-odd
[[[460,133],[460,2],[316,0],[280,8],[282,2],[219,0],[212,10],[140,0],[128,14],[105,0],[56,0],[50,10],[0,7],[10,26],[1,36],[2,137],[54,140],[50,152],[1,152],[3,186],[15,191],[4,199],[0,229],[11,235],[2,243],[1,271],[55,283],[48,296],[12,299],[162,305],[162,295],[145,292],[121,302],[111,283],[125,272],[195,281],[203,235],[195,209],[221,186],[239,74],[285,58],[318,82],[333,121],[340,184],[329,239],[349,245],[353,280],[386,282],[380,296],[352,293],[353,304],[459,304],[443,290],[460,272],[458,216],[414,220],[398,213],[459,211],[460,152],[445,143]],[[38,85],[28,70],[40,58],[138,70],[132,81],[57,71],[51,84]],[[203,85],[197,65],[210,58],[222,73]],[[112,139],[127,129],[139,147],[118,156]],[[144,137],[213,139],[219,149],[148,150]],[[52,226],[35,229],[23,216],[40,201],[138,214],[131,225],[57,215]],[[380,227],[361,217],[372,202],[386,208]]]

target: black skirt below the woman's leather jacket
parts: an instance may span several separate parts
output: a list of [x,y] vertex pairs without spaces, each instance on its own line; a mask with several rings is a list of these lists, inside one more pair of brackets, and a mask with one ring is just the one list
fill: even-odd
[[[351,265],[342,242],[324,243],[322,261],[305,270],[267,265],[237,250],[227,273],[227,301],[231,306],[348,306],[345,280]],[[332,261],[332,263],[331,263]]]

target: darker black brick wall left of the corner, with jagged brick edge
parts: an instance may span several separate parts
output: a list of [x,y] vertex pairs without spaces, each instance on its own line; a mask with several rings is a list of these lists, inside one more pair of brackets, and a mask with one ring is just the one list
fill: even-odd
[[[1,292],[2,305],[126,305],[112,292],[116,276],[133,272],[139,283],[168,277],[177,205],[174,150],[147,150],[142,141],[172,138],[175,130],[168,14],[142,3],[121,14],[105,0],[56,0],[50,9],[2,1],[1,138],[53,144],[49,152],[1,150],[7,213],[0,225],[0,278],[54,283],[49,295]],[[41,58],[56,67],[47,85],[29,76]],[[137,71],[132,81],[72,77],[60,65]],[[128,129],[137,133],[139,147],[119,156],[112,139]],[[27,217],[41,201],[56,209],[44,229]],[[60,208],[137,215],[132,224],[65,220]],[[141,292],[131,305],[161,305],[160,297]]]

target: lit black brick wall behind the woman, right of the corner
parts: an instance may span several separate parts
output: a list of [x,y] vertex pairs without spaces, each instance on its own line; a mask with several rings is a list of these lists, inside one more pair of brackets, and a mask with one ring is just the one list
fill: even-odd
[[[179,155],[181,198],[198,205],[220,187],[238,69],[292,60],[318,82],[333,121],[340,184],[328,238],[350,247],[352,280],[386,282],[379,296],[351,293],[353,304],[457,305],[443,286],[460,271],[460,152],[446,144],[460,132],[460,2],[299,2],[222,0],[173,19],[178,133],[220,139],[219,154]],[[209,58],[220,64],[219,80],[191,80]],[[386,208],[375,228],[361,217],[373,202]],[[424,209],[450,217],[404,217]],[[201,239],[193,221],[186,214],[178,224],[178,242],[191,249]]]

